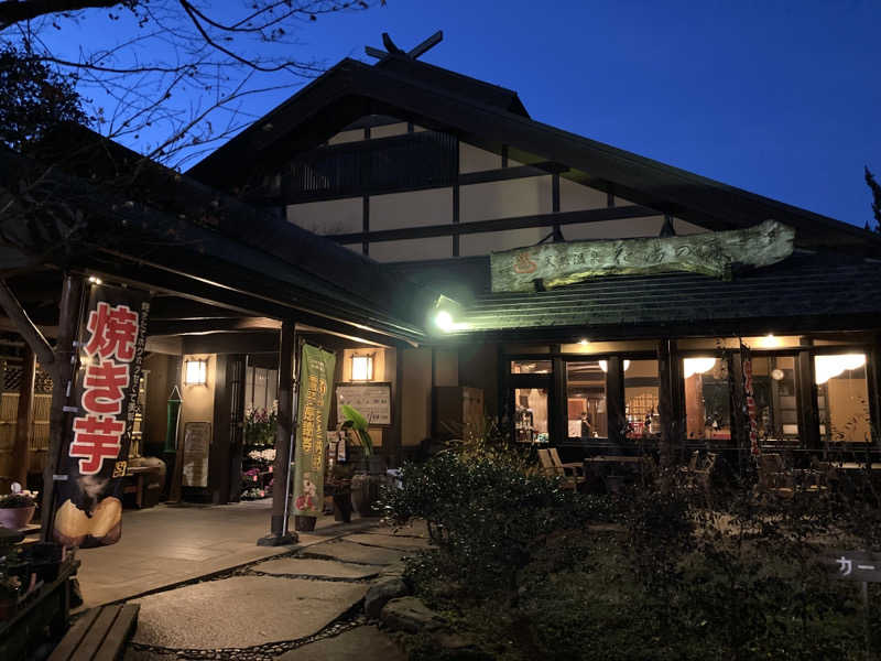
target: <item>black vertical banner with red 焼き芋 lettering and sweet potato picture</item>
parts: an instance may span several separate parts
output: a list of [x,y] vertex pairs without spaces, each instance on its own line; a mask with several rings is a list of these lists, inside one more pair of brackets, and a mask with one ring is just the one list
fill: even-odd
[[138,411],[150,294],[91,285],[79,328],[70,407],[56,474],[55,539],[101,546],[122,533],[122,477]]

